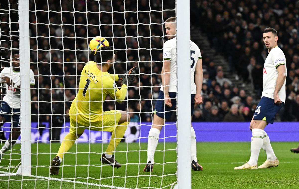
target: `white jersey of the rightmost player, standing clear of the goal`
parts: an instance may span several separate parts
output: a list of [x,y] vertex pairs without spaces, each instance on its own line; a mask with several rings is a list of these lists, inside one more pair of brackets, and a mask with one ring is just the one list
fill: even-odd
[[[286,65],[286,57],[283,54],[283,51],[278,48],[272,48],[269,52],[263,71],[263,93],[262,97],[268,97],[274,99],[274,89],[276,86],[276,81],[278,77],[277,66]],[[278,92],[278,97],[280,100],[285,103],[286,101],[286,80],[284,80],[283,86]]]

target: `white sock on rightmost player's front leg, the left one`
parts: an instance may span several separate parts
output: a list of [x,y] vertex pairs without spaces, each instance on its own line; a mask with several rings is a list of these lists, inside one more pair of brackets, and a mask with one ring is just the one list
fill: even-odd
[[251,138],[251,156],[248,161],[250,165],[256,165],[257,159],[259,158],[260,150],[263,146],[263,130],[262,129],[252,129]]

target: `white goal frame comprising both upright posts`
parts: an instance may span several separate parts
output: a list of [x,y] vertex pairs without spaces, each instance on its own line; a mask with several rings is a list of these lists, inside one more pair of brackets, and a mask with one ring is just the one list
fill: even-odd
[[[178,62],[178,176],[174,188],[191,188],[191,116],[190,116],[190,1],[176,0]],[[19,0],[19,43],[21,73],[21,165],[16,173],[0,176],[31,176],[30,46],[29,0]]]

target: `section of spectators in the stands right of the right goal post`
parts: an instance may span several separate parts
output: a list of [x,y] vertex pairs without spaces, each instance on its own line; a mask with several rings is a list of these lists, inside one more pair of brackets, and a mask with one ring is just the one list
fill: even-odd
[[203,59],[208,74],[204,76],[208,90],[206,94],[210,92],[213,95],[205,97],[204,109],[194,114],[197,115],[197,120],[215,120],[216,115],[224,116],[223,121],[227,121],[232,115],[235,115],[235,120],[239,119],[234,111],[236,107],[231,107],[229,115],[223,114],[225,109],[228,111],[226,102],[230,103],[237,98],[241,98],[241,103],[237,103],[239,117],[243,116],[245,121],[252,118],[263,90],[263,64],[268,55],[263,44],[262,31],[271,27],[278,33],[278,46],[286,56],[288,70],[286,105],[277,118],[279,121],[299,121],[299,1],[209,0],[191,3],[197,6],[191,9],[193,24],[207,34],[211,48],[226,57],[229,74],[236,74],[236,79],[247,85],[252,84],[255,89],[255,95],[251,97],[229,81],[222,84],[217,78],[218,75],[223,75],[221,69],[211,69],[215,67],[214,63]]

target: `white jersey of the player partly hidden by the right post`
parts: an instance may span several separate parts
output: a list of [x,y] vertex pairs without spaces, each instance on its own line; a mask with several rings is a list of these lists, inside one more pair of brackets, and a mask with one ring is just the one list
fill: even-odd
[[[194,83],[194,72],[196,68],[196,63],[198,59],[202,58],[198,46],[190,40],[190,81],[191,81],[191,94],[196,93],[196,85]],[[171,61],[170,63],[170,82],[169,82],[169,92],[177,92],[177,58],[176,58],[176,37],[170,39],[164,43],[163,47],[163,59]],[[189,64],[186,64],[189,65]],[[163,86],[161,87],[163,91]]]

